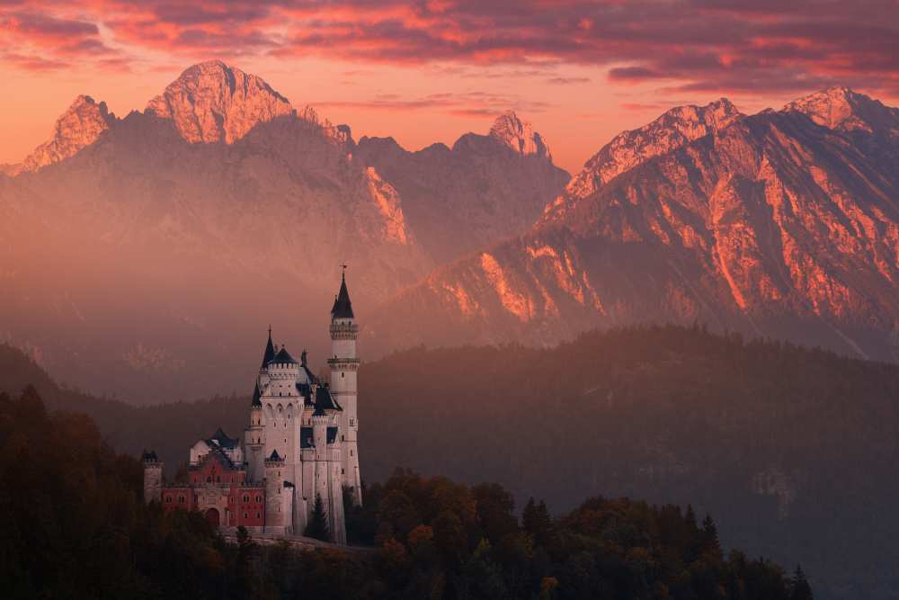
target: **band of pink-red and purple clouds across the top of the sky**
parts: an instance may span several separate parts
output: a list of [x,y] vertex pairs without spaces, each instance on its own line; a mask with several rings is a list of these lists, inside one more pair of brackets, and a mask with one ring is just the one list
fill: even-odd
[[[899,91],[899,0],[75,0],[29,4],[12,35],[49,44],[101,40],[173,57],[306,57],[360,65],[576,64],[612,83],[767,92],[846,83]],[[0,9],[0,22],[16,19]],[[75,16],[73,16],[75,15]],[[11,30],[12,31],[12,30]],[[13,47],[7,45],[8,51]],[[22,54],[27,54],[22,52]],[[85,52],[86,54],[86,52]],[[494,72],[494,71],[491,71]],[[547,83],[580,83],[553,76]]]

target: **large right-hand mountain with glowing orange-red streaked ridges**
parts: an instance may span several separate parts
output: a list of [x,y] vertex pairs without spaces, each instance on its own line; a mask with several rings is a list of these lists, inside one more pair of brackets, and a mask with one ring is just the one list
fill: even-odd
[[721,100],[613,139],[519,237],[378,312],[385,347],[691,323],[899,360],[899,110],[845,88]]

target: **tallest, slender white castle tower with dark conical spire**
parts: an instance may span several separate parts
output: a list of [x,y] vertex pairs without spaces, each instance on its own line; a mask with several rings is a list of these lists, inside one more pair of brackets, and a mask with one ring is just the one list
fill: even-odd
[[[346,290],[346,265],[343,265],[340,292],[331,309],[331,393],[341,407],[341,432],[343,440],[343,485],[352,488],[353,501],[362,504],[362,486],[359,472],[359,416],[356,411],[356,338],[359,326],[352,314],[350,293]],[[344,433],[345,432],[345,433]]]

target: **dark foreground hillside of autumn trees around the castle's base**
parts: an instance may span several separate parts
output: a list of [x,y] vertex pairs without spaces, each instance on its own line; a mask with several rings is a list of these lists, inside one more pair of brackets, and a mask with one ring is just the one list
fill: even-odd
[[199,512],[141,499],[141,466],[83,415],[33,389],[0,393],[0,587],[8,597],[557,598],[811,600],[770,560],[725,557],[688,507],[589,498],[563,518],[530,502],[521,523],[497,484],[398,470],[352,510],[370,551],[227,544]]

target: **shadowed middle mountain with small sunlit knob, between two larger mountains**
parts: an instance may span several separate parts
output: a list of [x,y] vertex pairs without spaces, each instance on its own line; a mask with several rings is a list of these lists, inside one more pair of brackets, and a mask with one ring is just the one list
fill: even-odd
[[488,135],[417,152],[394,139],[362,138],[357,154],[403,199],[409,226],[437,264],[526,230],[568,182],[540,134],[514,112]]

